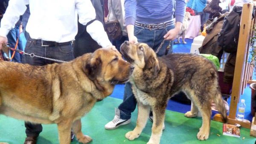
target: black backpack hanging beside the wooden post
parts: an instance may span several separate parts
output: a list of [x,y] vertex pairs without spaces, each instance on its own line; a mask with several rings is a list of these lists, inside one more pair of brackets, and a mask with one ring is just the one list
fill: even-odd
[[227,53],[237,51],[239,30],[241,20],[241,9],[236,6],[233,11],[224,17],[224,22],[218,34],[218,46],[221,46]]

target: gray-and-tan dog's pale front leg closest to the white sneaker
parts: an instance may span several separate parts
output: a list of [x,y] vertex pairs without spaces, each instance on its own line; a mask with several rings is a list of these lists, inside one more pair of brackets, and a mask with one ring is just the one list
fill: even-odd
[[137,118],[137,124],[133,131],[127,132],[125,134],[125,138],[129,139],[130,141],[134,140],[135,138],[138,138],[144,129],[148,116],[150,112],[150,106],[145,106],[141,102],[138,101],[138,118]]

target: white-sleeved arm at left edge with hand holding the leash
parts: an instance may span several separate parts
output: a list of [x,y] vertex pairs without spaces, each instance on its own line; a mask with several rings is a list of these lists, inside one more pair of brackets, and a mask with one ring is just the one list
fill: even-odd
[[26,4],[28,4],[28,0],[9,1],[9,6],[7,7],[6,12],[1,20],[0,49],[2,49],[3,44],[7,44],[6,35],[11,29],[14,28],[15,24],[20,19],[20,15],[26,11]]

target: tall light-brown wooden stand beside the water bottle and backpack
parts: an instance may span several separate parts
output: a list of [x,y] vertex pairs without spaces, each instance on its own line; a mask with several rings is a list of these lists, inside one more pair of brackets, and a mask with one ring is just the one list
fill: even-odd
[[[239,31],[239,42],[236,53],[236,65],[231,93],[230,112],[227,123],[240,124],[241,127],[250,129],[251,123],[248,120],[238,121],[236,119],[237,104],[240,94],[244,92],[244,88],[252,75],[252,67],[248,63],[249,42],[253,31],[254,20],[252,20],[253,4],[245,3],[241,14],[241,25]],[[221,115],[216,114],[213,117],[215,121],[222,121]]]

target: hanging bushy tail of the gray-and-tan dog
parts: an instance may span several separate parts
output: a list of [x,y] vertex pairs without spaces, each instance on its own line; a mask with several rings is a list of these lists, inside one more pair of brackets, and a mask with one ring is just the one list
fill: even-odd
[[221,114],[221,116],[223,118],[224,123],[227,123],[227,109],[225,108],[225,105],[223,102],[224,100],[222,98],[221,92],[218,91],[216,94],[216,97],[213,99],[214,99],[215,105],[216,105],[219,113]]

